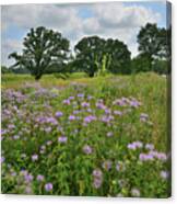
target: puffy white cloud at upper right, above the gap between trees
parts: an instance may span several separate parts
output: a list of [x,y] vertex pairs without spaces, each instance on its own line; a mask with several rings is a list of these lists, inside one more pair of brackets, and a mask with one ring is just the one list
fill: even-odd
[[139,27],[146,22],[157,22],[158,13],[153,13],[142,5],[125,5],[123,3],[95,4],[94,12],[101,24],[108,27]]

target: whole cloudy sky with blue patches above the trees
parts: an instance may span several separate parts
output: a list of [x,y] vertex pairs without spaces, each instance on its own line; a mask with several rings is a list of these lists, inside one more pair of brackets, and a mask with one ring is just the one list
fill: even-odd
[[118,38],[138,55],[137,35],[148,22],[166,26],[166,1],[16,4],[1,7],[1,65],[10,66],[12,52],[21,53],[31,27],[46,26],[70,39],[71,50],[83,36]]

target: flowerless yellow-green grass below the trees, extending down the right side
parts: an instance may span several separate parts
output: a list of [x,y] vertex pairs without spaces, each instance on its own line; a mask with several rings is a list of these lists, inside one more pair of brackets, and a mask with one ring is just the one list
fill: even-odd
[[[88,78],[84,73],[72,73],[68,80],[45,75],[36,82],[30,75],[8,73],[2,76],[3,89],[21,89],[26,84],[39,84],[43,88],[67,88],[74,83],[86,86],[97,98],[134,97],[142,101],[144,112],[152,116],[154,124],[153,140],[165,150],[168,136],[167,129],[167,79],[153,72],[132,76],[114,76]],[[70,90],[67,90],[70,92]],[[66,93],[66,89],[63,91]],[[163,139],[162,139],[163,137]]]

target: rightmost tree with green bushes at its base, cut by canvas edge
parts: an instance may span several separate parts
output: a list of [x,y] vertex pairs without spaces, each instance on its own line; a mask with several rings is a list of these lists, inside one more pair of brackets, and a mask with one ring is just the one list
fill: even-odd
[[169,72],[167,69],[170,68],[170,35],[172,27],[166,30],[151,23],[141,27],[138,34],[140,55],[132,59],[132,71]]

